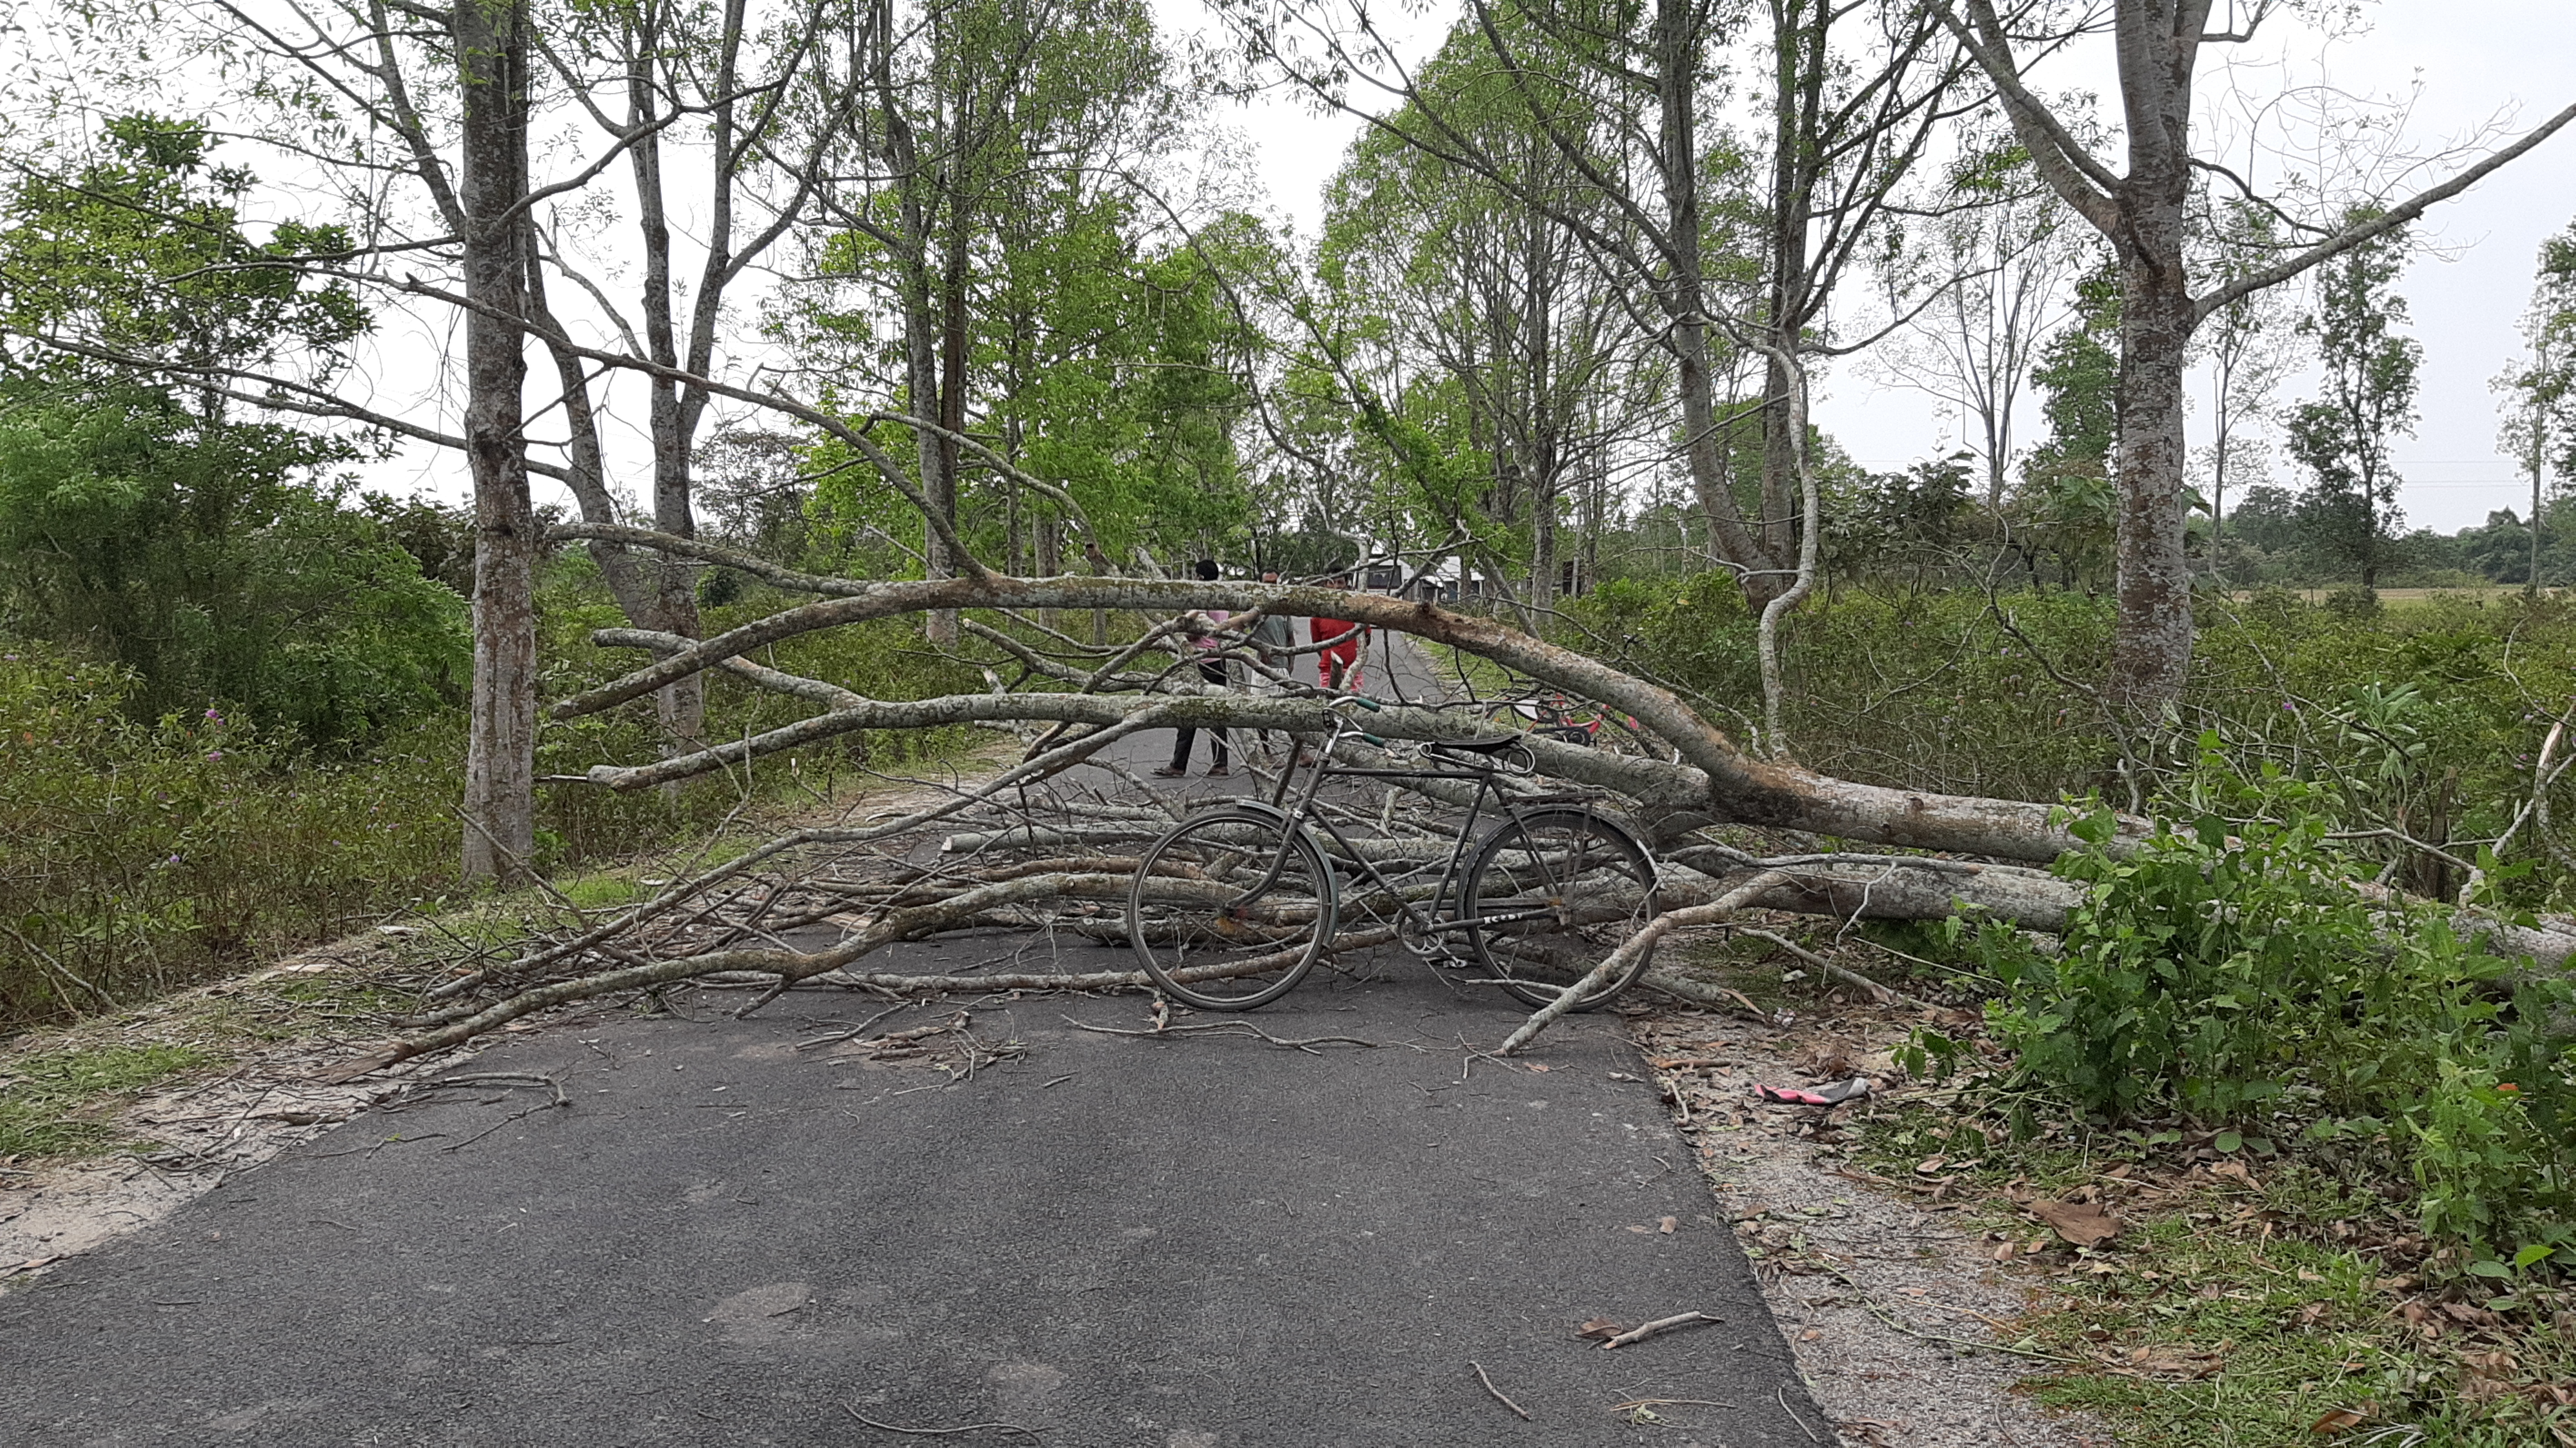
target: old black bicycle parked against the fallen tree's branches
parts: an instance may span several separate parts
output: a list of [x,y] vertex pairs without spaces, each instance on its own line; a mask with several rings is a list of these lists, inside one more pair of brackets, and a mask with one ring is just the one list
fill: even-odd
[[[1296,804],[1285,804],[1296,763],[1280,770],[1270,801],[1231,801],[1167,830],[1128,884],[1128,943],[1164,995],[1200,1010],[1252,1010],[1288,995],[1332,948],[1342,915],[1342,871],[1365,876],[1376,899],[1394,902],[1391,938],[1437,964],[1473,964],[1528,1005],[1553,1005],[1610,951],[1654,920],[1654,855],[1625,824],[1589,804],[1520,799],[1504,776],[1535,773],[1528,734],[1484,734],[1425,745],[1435,768],[1337,768],[1345,739],[1386,745],[1342,711],[1381,709],[1370,698],[1334,701],[1334,729]],[[1417,876],[1404,840],[1363,848],[1316,809],[1332,778],[1448,778],[1476,786],[1466,822],[1450,835],[1440,879]],[[1476,822],[1499,817],[1481,840]],[[1332,850],[1319,840],[1329,837]],[[1473,843],[1473,861],[1468,845]],[[1381,868],[1404,863],[1396,876]],[[1466,868],[1461,871],[1461,863]],[[1443,915],[1443,904],[1455,910]],[[1461,956],[1453,940],[1466,943]],[[1646,971],[1651,951],[1602,982],[1574,1010],[1600,1010]]]

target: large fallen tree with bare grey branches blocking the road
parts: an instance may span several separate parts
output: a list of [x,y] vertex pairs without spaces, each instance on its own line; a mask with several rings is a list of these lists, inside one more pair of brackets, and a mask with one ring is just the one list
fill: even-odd
[[[616,709],[711,670],[806,701],[814,714],[672,757],[600,763],[585,776],[592,786],[654,788],[858,729],[979,724],[1010,732],[1020,742],[1020,757],[1002,763],[974,788],[945,788],[889,819],[783,835],[634,907],[585,912],[562,902],[556,928],[531,938],[513,958],[474,964],[433,992],[443,1005],[412,1020],[417,1033],[358,1062],[353,1072],[453,1046],[554,1005],[680,982],[757,984],[760,995],[744,1010],[757,1010],[796,984],[902,997],[1146,989],[1141,971],[1115,969],[1126,964],[1123,956],[1113,956],[1115,966],[1066,966],[1059,946],[1126,943],[1123,902],[1136,853],[1175,822],[1175,809],[1144,788],[1113,799],[1097,783],[1082,786],[1074,770],[1105,773],[1113,788],[1141,783],[1133,776],[1121,781],[1123,768],[1103,757],[1110,745],[1141,729],[1195,724],[1288,739],[1332,729],[1332,698],[1319,691],[1247,693],[1208,683],[1190,667],[1211,657],[1195,647],[1195,634],[1216,644],[1213,657],[1234,660],[1242,678],[1280,685],[1280,660],[1247,647],[1249,626],[1270,613],[1355,618],[1388,634],[1445,644],[1492,660],[1533,685],[1625,716],[1631,732],[1607,732],[1595,742],[1525,737],[1522,747],[1535,768],[1504,788],[1533,799],[1582,794],[1636,822],[1656,845],[1667,917],[1633,943],[1636,951],[1680,928],[1747,925],[1754,912],[1842,922],[1971,917],[2053,935],[2087,899],[2084,886],[2040,868],[2084,848],[2063,806],[1855,783],[1788,760],[1754,757],[1669,688],[1492,618],[1430,603],[1311,585],[1028,580],[989,569],[948,580],[866,582],[806,575],[644,528],[577,523],[556,536],[662,549],[814,595],[811,603],[781,608],[714,639],[598,631],[598,644],[636,649],[649,660],[605,685],[556,701],[556,719]],[[1151,626],[1133,642],[1090,644],[1038,621],[1036,611],[1054,608],[1128,611],[1146,616]],[[1005,685],[989,670],[984,693],[878,701],[845,683],[793,675],[750,657],[804,634],[927,611],[987,611],[989,621],[974,621],[969,634],[987,642],[999,665],[1018,665],[1020,678]],[[1231,618],[1213,629],[1208,611],[1229,611]],[[1396,688],[1368,716],[1376,742],[1350,742],[1347,750],[1365,765],[1401,768],[1412,757],[1409,745],[1489,734],[1492,716],[1510,716],[1512,703],[1404,698]],[[1255,773],[1265,786],[1283,786],[1278,773],[1257,765]],[[1445,861],[1440,819],[1463,796],[1455,783],[1443,781],[1391,783],[1376,809],[1334,796],[1321,799],[1321,806],[1355,824],[1355,848],[1381,868],[1391,863],[1404,881],[1404,868],[1435,871]],[[2130,850],[2148,830],[2146,819],[2120,817],[2105,848]],[[902,863],[891,853],[894,843],[917,843],[930,832],[943,835],[940,863]],[[1747,840],[1790,843],[1795,850],[1757,853]],[[1837,848],[1814,848],[1816,843]],[[1852,845],[1878,845],[1886,853]],[[1146,881],[1151,899],[1221,899],[1226,889],[1231,886],[1208,879]],[[1419,899],[1430,876],[1422,873],[1406,889]],[[2491,948],[2545,966],[2561,966],[2576,953],[2576,930],[2483,915],[2473,917],[2473,928],[2486,933]],[[971,930],[1033,935],[1048,940],[1056,958],[1051,969],[860,969],[886,946]],[[822,935],[791,940],[799,933]],[[1391,902],[1373,899],[1373,886],[1358,889],[1345,897],[1345,928],[1332,938],[1332,956],[1363,958],[1396,938]],[[1798,951],[1788,940],[1780,946]],[[1255,961],[1236,969],[1262,966]],[[1896,1000],[1847,966],[1826,969]],[[1731,997],[1669,964],[1643,976],[1643,984],[1708,1005],[1728,1005]],[[1548,1015],[1533,1018],[1512,1043],[1535,1036]]]

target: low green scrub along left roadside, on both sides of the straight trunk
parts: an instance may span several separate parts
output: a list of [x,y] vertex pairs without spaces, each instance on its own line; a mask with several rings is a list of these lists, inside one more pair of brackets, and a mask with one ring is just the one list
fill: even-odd
[[[417,575],[415,575],[417,577]],[[773,608],[768,595],[708,613],[711,629]],[[538,595],[546,688],[569,693],[631,667],[587,642],[623,624],[587,554],[564,554]],[[781,644],[814,678],[920,698],[976,688],[958,660],[917,652],[904,621]],[[95,1013],[281,948],[340,935],[456,889],[464,719],[420,716],[358,752],[312,750],[291,729],[222,709],[134,719],[131,672],[41,644],[0,644],[0,1031]],[[801,714],[716,678],[708,732],[739,737]],[[860,765],[969,747],[966,729],[855,734],[762,760],[752,778],[662,791],[538,791],[538,863],[572,868],[701,837],[750,799],[811,804]],[[652,703],[554,724],[538,773],[662,750]]]

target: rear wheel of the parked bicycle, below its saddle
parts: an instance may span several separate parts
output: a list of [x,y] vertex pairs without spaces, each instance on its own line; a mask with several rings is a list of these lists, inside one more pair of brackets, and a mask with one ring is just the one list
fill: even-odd
[[[1484,837],[1461,897],[1476,961],[1530,1005],[1551,1005],[1656,915],[1654,861],[1589,809],[1533,809]],[[1646,974],[1638,951],[1574,1010],[1600,1010]]]

